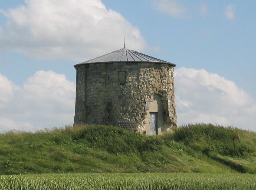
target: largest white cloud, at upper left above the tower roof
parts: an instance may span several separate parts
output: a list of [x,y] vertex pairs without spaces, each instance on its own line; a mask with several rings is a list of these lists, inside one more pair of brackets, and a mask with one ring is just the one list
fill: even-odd
[[2,50],[82,62],[122,48],[124,37],[128,48],[147,48],[139,29],[101,0],[26,0],[2,13],[8,23]]

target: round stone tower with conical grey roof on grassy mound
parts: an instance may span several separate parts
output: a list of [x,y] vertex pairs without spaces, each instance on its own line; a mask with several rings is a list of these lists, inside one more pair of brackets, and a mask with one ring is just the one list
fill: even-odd
[[74,124],[161,134],[177,127],[174,66],[122,48],[76,64]]

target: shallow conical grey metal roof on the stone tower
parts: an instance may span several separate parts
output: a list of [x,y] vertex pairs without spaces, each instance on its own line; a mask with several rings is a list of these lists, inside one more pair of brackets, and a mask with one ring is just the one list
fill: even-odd
[[160,60],[149,55],[141,54],[137,51],[128,50],[125,46],[124,48],[113,51],[111,53],[96,57],[94,59],[76,64],[75,66],[90,63],[113,63],[113,62],[148,62],[148,63],[166,63],[172,66],[176,66],[174,63],[170,63],[164,60]]

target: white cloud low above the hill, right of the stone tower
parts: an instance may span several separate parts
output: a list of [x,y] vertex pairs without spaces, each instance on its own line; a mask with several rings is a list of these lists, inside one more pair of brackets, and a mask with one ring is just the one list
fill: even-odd
[[179,124],[218,123],[256,131],[256,101],[233,81],[206,70],[175,70]]

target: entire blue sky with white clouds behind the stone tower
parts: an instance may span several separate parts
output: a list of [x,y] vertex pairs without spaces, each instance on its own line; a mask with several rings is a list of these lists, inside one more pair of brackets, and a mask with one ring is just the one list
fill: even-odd
[[72,124],[76,63],[126,48],[177,64],[178,124],[256,131],[256,1],[0,0],[0,132]]

